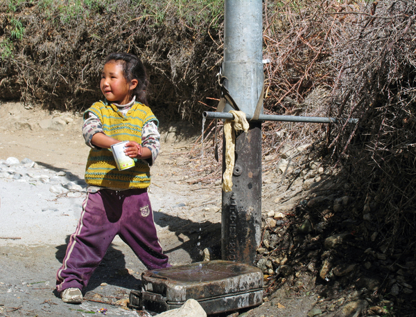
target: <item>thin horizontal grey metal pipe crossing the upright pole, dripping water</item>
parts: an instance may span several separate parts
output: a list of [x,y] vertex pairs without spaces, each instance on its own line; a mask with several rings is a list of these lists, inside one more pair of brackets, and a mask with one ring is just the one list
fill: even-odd
[[[229,112],[213,112],[204,111],[203,118],[207,119],[233,119],[234,116]],[[247,120],[251,120],[252,116],[246,114]],[[345,122],[345,119],[325,118],[325,117],[303,117],[303,116],[279,116],[275,114],[261,114],[257,121],[286,121],[294,123],[338,123]],[[358,123],[358,119],[349,119],[348,123]]]

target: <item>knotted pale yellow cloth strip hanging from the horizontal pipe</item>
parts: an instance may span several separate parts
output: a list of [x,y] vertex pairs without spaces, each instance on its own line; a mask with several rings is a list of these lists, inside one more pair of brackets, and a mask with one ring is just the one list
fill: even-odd
[[235,131],[248,132],[250,125],[245,118],[243,111],[229,111],[234,116],[234,119],[227,119],[224,123],[224,136],[225,136],[225,172],[223,174],[223,191],[232,191],[232,172],[234,170],[235,163],[235,148],[236,148],[236,136]]

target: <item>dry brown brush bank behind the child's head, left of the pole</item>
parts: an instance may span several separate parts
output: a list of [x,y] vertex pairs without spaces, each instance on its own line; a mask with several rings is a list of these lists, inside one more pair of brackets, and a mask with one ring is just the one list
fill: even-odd
[[[127,51],[144,60],[152,83],[149,102],[159,118],[198,116],[199,121],[204,104],[213,104],[205,97],[216,95],[215,67],[222,53],[217,2],[9,3],[0,10],[0,93],[49,109],[82,111],[101,98],[98,79],[105,56]],[[21,23],[24,36],[13,40],[7,53],[1,46],[12,37],[12,21]]]

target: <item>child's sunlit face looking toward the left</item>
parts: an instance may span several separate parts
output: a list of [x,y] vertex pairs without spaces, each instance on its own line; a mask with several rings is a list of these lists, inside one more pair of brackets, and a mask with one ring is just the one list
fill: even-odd
[[123,76],[123,66],[114,61],[107,62],[101,73],[100,88],[108,101],[125,105],[132,99],[130,91],[137,83],[128,82]]

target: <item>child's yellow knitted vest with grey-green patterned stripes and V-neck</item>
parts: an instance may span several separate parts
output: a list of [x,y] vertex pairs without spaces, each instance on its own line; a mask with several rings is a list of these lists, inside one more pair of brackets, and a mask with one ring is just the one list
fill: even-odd
[[[149,107],[136,102],[125,116],[115,105],[96,102],[84,113],[95,114],[103,124],[107,136],[120,141],[135,141],[141,144],[141,129],[150,121],[158,121]],[[110,149],[92,149],[89,151],[85,181],[89,185],[110,188],[147,188],[150,185],[150,167],[141,159],[135,159],[136,165],[128,170],[119,171]]]

